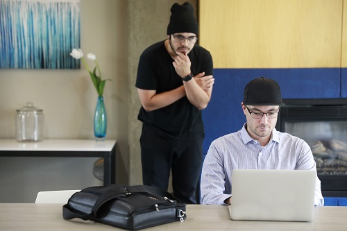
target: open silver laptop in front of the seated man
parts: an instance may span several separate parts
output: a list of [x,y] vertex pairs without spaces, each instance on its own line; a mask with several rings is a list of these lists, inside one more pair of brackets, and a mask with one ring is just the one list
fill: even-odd
[[235,169],[232,171],[232,220],[312,221],[316,172]]

